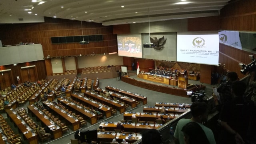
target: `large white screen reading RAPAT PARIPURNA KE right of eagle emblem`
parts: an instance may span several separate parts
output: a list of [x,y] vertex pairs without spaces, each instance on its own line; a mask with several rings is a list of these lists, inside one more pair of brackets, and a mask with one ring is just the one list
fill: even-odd
[[177,61],[197,64],[219,64],[219,35],[177,33]]

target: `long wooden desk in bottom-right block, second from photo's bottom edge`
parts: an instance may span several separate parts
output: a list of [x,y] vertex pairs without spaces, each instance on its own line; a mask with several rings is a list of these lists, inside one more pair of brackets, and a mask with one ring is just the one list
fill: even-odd
[[[117,124],[110,124],[108,123],[107,125],[106,124],[100,124],[100,126],[102,126],[105,130],[108,130],[108,131],[114,131],[116,129],[116,125]],[[132,124],[123,124],[124,126],[124,132],[143,132],[144,130],[148,130],[148,129],[158,129],[160,128],[160,125],[138,125],[138,124],[135,124],[135,125],[132,125]]]

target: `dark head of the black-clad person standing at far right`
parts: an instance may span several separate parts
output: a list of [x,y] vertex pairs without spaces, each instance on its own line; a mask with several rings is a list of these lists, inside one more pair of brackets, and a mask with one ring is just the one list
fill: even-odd
[[231,93],[234,97],[242,97],[246,90],[246,84],[240,80],[236,80],[232,83]]

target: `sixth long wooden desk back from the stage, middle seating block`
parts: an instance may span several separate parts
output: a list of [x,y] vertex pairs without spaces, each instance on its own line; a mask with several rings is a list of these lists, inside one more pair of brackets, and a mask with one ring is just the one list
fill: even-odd
[[58,109],[58,108],[55,108],[55,106],[52,104],[52,103],[48,103],[49,101],[44,101],[42,102],[44,106],[47,106],[48,108],[51,109],[51,112],[54,112],[54,115],[58,115],[59,116],[59,119],[62,120],[64,119],[65,120],[65,124],[66,125],[72,125],[71,129],[73,131],[76,131],[80,128],[80,121],[79,120],[74,120],[74,118],[71,118],[68,116],[68,114],[66,114],[65,112],[62,112],[62,110]]

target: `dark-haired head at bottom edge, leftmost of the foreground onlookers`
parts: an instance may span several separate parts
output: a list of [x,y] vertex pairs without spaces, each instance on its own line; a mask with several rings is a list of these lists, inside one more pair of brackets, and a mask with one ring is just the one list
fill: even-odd
[[162,136],[156,129],[150,129],[142,133],[142,144],[162,144]]

